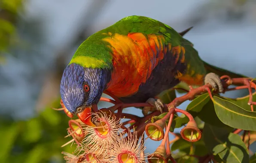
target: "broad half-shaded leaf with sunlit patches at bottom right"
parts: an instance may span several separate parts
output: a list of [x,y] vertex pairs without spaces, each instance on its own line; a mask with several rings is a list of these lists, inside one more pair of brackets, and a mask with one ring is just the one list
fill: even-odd
[[203,139],[207,148],[213,155],[228,163],[248,163],[248,150],[237,134],[230,133],[231,127],[214,127],[209,124],[204,125]]

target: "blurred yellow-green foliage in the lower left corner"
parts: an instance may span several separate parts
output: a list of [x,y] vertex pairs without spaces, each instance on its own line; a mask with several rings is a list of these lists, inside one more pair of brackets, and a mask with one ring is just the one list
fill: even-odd
[[[52,106],[59,107],[56,103]],[[45,163],[55,160],[63,163],[61,151],[72,153],[76,148],[76,145],[61,148],[61,145],[71,139],[64,138],[69,119],[64,112],[56,112],[50,108],[27,121],[4,121],[1,118],[0,162]]]

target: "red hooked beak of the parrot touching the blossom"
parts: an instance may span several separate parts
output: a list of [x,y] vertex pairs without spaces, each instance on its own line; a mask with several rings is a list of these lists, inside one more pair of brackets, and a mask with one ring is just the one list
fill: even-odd
[[[81,113],[77,113],[77,117],[86,125],[95,127],[95,125],[91,121],[91,109],[95,112],[98,111],[97,105],[93,105],[92,107],[86,107]],[[96,112],[97,112],[96,111]]]

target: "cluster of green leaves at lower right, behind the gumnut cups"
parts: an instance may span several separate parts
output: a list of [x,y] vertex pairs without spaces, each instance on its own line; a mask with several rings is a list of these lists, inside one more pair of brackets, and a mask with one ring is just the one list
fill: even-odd
[[[256,92],[253,93],[252,99],[256,101]],[[249,163],[249,158],[250,163],[256,163],[256,154],[249,157],[248,141],[245,139],[243,142],[240,135],[233,133],[234,129],[251,130],[252,136],[256,131],[256,112],[251,112],[248,101],[249,95],[228,98],[213,94],[213,100],[208,93],[197,96],[189,103],[186,111],[203,130],[202,138],[194,143],[177,140],[171,145],[172,156],[178,163],[197,163],[198,157],[210,155],[213,155],[218,163]],[[253,106],[254,111],[255,108],[256,106]],[[165,115],[166,113],[155,116],[152,121]],[[188,122],[189,118],[186,116],[176,116],[170,131],[173,132],[174,128],[183,127]]]

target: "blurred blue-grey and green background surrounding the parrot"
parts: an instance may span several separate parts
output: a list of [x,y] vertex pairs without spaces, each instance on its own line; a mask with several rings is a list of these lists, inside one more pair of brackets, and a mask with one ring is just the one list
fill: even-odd
[[[159,3],[146,0],[0,0],[0,162],[64,162],[61,151],[75,148],[60,148],[68,141],[64,136],[69,118],[50,109],[60,106],[62,72],[88,36],[128,15],[155,18],[177,31],[194,26],[185,38],[203,60],[256,77],[254,0],[162,3],[156,8]],[[245,94],[235,91],[225,96]],[[153,152],[158,142],[146,146],[146,152]]]

